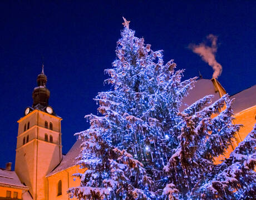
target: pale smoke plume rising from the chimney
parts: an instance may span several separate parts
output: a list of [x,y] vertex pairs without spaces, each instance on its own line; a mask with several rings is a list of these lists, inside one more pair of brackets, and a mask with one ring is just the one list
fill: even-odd
[[203,61],[209,64],[214,70],[213,78],[218,78],[222,72],[222,66],[215,59],[215,53],[217,52],[217,36],[209,34],[206,37],[211,42],[211,47],[206,46],[205,42],[202,42],[198,45],[189,44],[189,48],[196,54],[199,54]]

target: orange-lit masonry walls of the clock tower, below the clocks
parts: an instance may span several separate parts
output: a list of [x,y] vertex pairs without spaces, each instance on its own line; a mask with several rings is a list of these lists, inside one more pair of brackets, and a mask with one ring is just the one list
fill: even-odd
[[[48,128],[45,128],[45,121]],[[28,122],[29,129],[25,131],[24,126]],[[49,129],[50,122],[53,124],[52,130]],[[18,123],[15,171],[21,182],[29,187],[33,199],[43,200],[47,194],[46,175],[62,159],[61,118],[35,110],[19,119]],[[45,141],[45,134],[48,142]],[[50,136],[53,137],[52,143]]]

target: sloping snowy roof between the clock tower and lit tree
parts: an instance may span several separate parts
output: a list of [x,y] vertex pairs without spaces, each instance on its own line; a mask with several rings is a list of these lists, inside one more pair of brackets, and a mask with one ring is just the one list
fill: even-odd
[[70,151],[67,152],[66,156],[62,157],[61,163],[58,164],[58,166],[55,169],[53,169],[53,171],[51,171],[47,175],[47,177],[50,177],[53,174],[56,174],[56,173],[61,172],[67,168],[75,166],[76,165],[75,158],[80,154],[81,143],[82,143],[81,140],[77,140],[75,142],[75,144],[73,144],[73,146],[71,147]]

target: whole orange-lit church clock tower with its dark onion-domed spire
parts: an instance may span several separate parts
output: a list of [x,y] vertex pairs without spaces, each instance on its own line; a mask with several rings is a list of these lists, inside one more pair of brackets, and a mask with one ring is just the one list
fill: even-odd
[[37,76],[37,87],[32,93],[33,105],[27,107],[18,120],[15,172],[27,187],[33,200],[47,199],[46,175],[62,159],[61,117],[49,106],[50,91],[47,77]]

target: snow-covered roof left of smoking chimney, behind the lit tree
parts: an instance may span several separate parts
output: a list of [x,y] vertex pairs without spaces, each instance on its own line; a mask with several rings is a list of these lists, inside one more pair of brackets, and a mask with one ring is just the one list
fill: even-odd
[[180,111],[183,111],[191,104],[210,94],[214,96],[212,102],[215,102],[220,98],[219,92],[215,91],[214,84],[210,79],[199,79],[196,81],[195,87],[189,91],[188,96],[183,98],[183,104],[180,107]]

